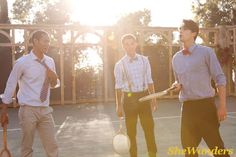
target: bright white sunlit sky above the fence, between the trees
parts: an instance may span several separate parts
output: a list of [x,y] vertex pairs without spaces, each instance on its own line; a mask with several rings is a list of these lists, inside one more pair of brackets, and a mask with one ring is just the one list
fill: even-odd
[[[14,0],[9,0],[11,8]],[[106,26],[130,12],[151,11],[150,26],[178,27],[182,19],[193,18],[194,0],[68,0],[72,4],[72,18],[83,25]]]

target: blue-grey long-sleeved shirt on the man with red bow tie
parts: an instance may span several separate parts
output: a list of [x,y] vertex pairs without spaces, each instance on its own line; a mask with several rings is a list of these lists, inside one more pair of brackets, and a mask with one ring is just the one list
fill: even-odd
[[216,86],[226,85],[226,78],[220,63],[210,47],[194,44],[190,55],[183,55],[182,50],[172,59],[175,79],[182,84],[180,101],[197,100],[215,95],[211,86],[213,79]]

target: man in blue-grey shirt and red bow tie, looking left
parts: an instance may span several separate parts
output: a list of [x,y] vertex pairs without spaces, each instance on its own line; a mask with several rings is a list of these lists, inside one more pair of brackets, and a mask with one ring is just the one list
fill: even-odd
[[[215,157],[229,157],[219,132],[220,122],[227,116],[225,75],[214,51],[195,44],[199,32],[197,23],[183,20],[179,31],[183,49],[174,55],[172,66],[176,80],[173,85],[183,103],[181,143],[187,150],[185,157],[198,156],[196,151],[202,139]],[[218,90],[218,108],[212,79]]]

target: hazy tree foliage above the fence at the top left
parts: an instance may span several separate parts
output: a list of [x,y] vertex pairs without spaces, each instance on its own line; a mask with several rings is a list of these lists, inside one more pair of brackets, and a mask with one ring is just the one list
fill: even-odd
[[65,24],[70,22],[70,10],[66,0],[16,0],[13,19],[26,24]]

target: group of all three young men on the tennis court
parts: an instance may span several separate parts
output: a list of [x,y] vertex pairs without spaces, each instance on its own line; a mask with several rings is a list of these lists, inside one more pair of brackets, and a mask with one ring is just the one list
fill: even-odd
[[[195,44],[198,25],[192,20],[184,20],[180,27],[180,40],[183,50],[173,57],[173,70],[176,91],[179,91],[182,106],[181,142],[183,148],[196,149],[203,138],[210,149],[225,149],[219,133],[219,121],[226,118],[226,80],[220,64],[209,47]],[[18,101],[19,120],[22,128],[22,157],[32,156],[34,133],[39,131],[42,143],[50,157],[58,156],[54,137],[52,109],[49,107],[49,86],[57,84],[55,63],[45,55],[49,47],[49,36],[37,31],[32,37],[32,51],[17,60],[9,76],[3,96],[1,123],[8,123],[7,104],[11,103],[17,82],[19,82]],[[116,111],[124,116],[127,133],[131,141],[130,155],[137,157],[136,126],[140,118],[148,147],[149,157],[155,157],[157,148],[154,134],[152,111],[157,108],[156,99],[138,102],[144,95],[154,93],[151,68],[148,59],[137,54],[137,40],[132,34],[122,38],[126,55],[117,62],[115,73]],[[214,103],[214,89],[211,79],[216,82],[219,92],[218,110]],[[123,101],[123,102],[122,102]],[[186,154],[196,157],[197,154]],[[216,154],[216,157],[228,157]]]

